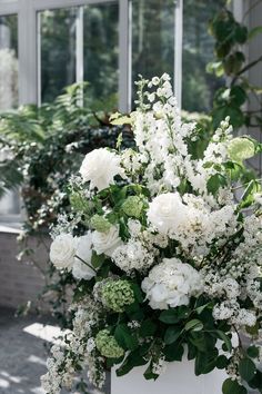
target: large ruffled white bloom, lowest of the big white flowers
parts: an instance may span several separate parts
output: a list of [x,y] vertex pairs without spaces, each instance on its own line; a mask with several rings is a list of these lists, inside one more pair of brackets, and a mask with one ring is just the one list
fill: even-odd
[[199,295],[201,285],[201,276],[191,265],[164,258],[150,270],[141,287],[152,309],[168,309],[188,305],[191,296]]

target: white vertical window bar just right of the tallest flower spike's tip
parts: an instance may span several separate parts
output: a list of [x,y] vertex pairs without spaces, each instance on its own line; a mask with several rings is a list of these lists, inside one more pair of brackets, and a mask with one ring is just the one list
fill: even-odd
[[174,95],[182,107],[183,0],[174,6]]

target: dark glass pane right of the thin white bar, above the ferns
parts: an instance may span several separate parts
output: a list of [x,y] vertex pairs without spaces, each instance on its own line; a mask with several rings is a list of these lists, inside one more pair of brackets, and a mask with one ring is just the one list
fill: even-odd
[[119,6],[85,6],[83,11],[84,80],[91,99],[118,92]]

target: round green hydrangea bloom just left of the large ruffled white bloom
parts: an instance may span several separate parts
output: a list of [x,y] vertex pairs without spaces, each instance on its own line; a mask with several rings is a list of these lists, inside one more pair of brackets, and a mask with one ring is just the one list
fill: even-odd
[[134,293],[128,280],[108,282],[102,288],[103,303],[114,312],[123,312],[134,303]]

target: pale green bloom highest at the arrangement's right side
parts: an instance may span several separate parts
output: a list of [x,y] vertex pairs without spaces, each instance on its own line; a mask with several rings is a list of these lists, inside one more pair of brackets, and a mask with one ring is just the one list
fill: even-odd
[[233,138],[228,147],[229,156],[234,161],[243,161],[254,156],[254,144],[244,137]]

